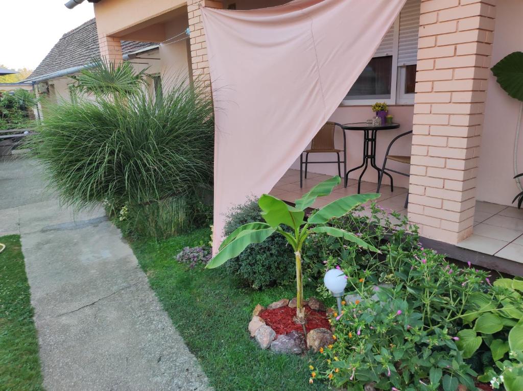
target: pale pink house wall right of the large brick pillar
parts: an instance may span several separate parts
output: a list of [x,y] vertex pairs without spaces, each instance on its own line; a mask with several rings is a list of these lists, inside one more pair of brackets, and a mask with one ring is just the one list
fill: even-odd
[[[523,2],[498,0],[491,65],[523,51]],[[520,102],[510,98],[489,72],[476,199],[510,205],[519,192],[514,181],[513,149]],[[523,133],[523,132],[522,132]],[[523,172],[523,134],[519,139],[519,172]]]

